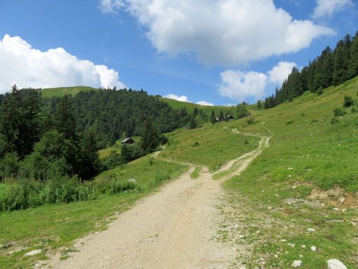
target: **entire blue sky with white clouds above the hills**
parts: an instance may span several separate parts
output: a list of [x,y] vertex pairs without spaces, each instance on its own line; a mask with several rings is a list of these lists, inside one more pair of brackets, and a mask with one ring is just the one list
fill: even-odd
[[[124,84],[191,102],[255,102],[357,30],[352,0],[0,0],[0,90]],[[64,50],[46,53],[55,48]]]

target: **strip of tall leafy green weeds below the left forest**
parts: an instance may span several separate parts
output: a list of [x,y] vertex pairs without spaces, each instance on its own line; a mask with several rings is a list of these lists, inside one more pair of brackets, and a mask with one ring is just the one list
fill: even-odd
[[57,177],[44,182],[10,179],[0,184],[0,211],[94,200],[101,194],[114,195],[134,190],[141,190],[141,187],[132,182],[116,179],[85,183],[82,183],[78,177]]

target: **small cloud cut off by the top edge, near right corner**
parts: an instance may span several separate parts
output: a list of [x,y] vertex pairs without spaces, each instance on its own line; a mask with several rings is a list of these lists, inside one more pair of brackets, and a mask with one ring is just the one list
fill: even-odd
[[313,18],[329,17],[343,8],[352,6],[352,0],[317,0],[317,6],[313,11]]

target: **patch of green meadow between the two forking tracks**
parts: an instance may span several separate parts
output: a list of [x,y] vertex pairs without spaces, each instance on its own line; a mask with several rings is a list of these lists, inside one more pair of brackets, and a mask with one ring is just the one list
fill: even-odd
[[236,121],[172,132],[167,135],[169,146],[161,156],[218,170],[227,161],[257,148],[258,137],[235,135],[231,130],[233,125],[237,125]]

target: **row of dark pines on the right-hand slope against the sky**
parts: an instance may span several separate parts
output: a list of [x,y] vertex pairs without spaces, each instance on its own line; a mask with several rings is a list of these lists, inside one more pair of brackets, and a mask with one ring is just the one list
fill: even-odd
[[352,38],[349,34],[338,41],[336,48],[325,48],[319,57],[301,71],[294,68],[280,89],[265,99],[268,109],[282,102],[292,100],[306,90],[322,93],[322,89],[339,85],[358,76],[358,32]]

